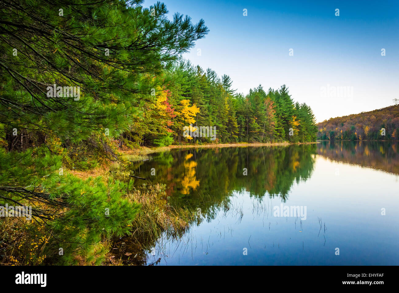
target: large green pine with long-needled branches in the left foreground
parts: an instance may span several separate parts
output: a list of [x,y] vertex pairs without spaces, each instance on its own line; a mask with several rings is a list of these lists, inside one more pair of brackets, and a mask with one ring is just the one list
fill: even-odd
[[109,150],[208,31],[203,20],[168,20],[164,4],[141,2],[5,0],[0,10],[0,205],[32,206],[28,226],[51,238],[51,255],[68,252],[62,263],[101,262],[95,244],[128,233],[139,208],[126,194],[132,181],[70,175],[64,147]]

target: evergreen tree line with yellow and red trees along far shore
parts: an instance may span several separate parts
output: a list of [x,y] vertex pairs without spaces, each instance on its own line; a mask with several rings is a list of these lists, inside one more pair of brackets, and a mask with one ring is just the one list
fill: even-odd
[[317,126],[312,109],[294,102],[288,87],[236,94],[229,75],[219,77],[180,58],[168,73],[170,83],[159,88],[156,99],[146,103],[142,116],[122,137],[134,146],[172,143],[210,143],[208,137],[184,135],[184,126],[216,128],[216,143],[312,142]]

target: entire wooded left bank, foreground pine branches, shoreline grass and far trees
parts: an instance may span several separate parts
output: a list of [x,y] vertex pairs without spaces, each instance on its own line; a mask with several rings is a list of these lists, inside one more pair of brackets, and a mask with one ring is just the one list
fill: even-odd
[[[180,221],[152,205],[161,190],[134,188],[123,147],[316,140],[288,87],[237,94],[181,57],[203,20],[142,2],[2,1],[0,205],[32,207],[32,220],[1,218],[2,264],[103,264],[115,237]],[[189,125],[215,126],[216,140],[183,136]]]

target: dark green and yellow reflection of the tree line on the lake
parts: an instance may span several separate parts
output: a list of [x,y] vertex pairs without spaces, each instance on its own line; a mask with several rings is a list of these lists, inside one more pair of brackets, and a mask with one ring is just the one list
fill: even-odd
[[[316,144],[177,149],[154,154],[151,160],[134,164],[132,171],[166,184],[175,206],[197,206],[207,202],[206,195],[212,195],[210,205],[220,204],[242,189],[253,197],[278,196],[286,201],[292,184],[311,176],[316,151]],[[152,168],[156,176],[151,175]]]

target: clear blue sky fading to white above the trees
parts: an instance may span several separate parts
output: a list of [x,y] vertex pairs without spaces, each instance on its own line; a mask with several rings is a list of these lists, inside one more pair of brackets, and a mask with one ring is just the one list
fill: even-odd
[[[229,75],[237,92],[286,84],[295,101],[312,107],[318,122],[390,106],[399,98],[399,1],[162,2],[170,17],[180,12],[193,22],[205,20],[208,35],[184,57]],[[353,95],[323,95],[323,87],[345,87]]]

